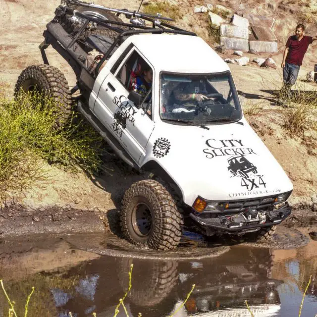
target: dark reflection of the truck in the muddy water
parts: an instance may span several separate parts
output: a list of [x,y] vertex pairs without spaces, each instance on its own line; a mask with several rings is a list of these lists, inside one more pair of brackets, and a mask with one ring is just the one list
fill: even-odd
[[[268,249],[233,248],[217,258],[199,261],[158,261],[101,258],[67,272],[81,276],[72,290],[52,289],[59,317],[112,317],[128,287],[128,271],[134,264],[132,289],[124,303],[130,317],[170,316],[192,288],[186,305],[175,317],[274,316],[280,310],[271,278],[272,257]],[[122,307],[118,317],[126,316]]]

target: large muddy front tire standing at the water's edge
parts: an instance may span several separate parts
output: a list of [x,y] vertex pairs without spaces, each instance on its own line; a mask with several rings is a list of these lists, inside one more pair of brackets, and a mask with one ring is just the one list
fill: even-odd
[[120,226],[130,243],[155,250],[175,249],[182,225],[174,198],[158,181],[142,180],[125,192]]

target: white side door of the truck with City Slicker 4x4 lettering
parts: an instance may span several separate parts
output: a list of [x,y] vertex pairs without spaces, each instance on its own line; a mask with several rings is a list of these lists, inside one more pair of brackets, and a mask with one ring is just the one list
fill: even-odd
[[[154,129],[148,113],[129,100],[132,90],[133,67],[150,65],[135,47],[117,69],[111,69],[99,91],[94,112],[139,165]],[[152,67],[153,69],[153,67]]]

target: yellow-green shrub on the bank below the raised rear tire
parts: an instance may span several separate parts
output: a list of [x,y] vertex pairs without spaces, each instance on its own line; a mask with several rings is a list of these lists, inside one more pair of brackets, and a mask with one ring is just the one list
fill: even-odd
[[58,109],[41,96],[0,98],[1,200],[45,179],[43,160],[71,170],[93,172],[100,167],[102,138],[75,114],[63,128],[56,128]]

